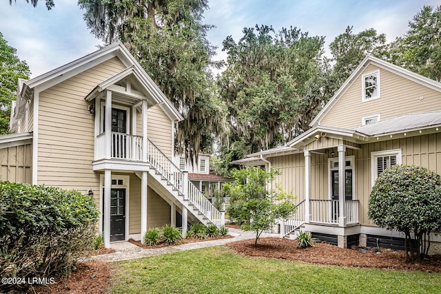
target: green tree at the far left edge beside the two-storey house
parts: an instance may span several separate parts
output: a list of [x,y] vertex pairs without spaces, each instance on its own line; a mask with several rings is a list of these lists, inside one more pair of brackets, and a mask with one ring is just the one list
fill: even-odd
[[8,45],[0,32],[0,134],[8,134],[11,101],[17,96],[19,78],[28,79],[30,70],[17,56],[17,50]]

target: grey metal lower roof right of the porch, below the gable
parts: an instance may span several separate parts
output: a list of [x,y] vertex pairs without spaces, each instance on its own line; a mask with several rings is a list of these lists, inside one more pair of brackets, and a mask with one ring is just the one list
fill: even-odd
[[362,125],[356,127],[356,132],[368,136],[378,136],[393,132],[411,131],[423,127],[441,125],[441,112],[423,112],[419,114],[404,114],[386,120],[380,120],[378,123]]

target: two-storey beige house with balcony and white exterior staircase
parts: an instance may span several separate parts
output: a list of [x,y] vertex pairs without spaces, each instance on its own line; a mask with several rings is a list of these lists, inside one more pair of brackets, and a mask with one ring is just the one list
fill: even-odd
[[1,179],[77,189],[99,207],[105,246],[187,221],[223,224],[174,165],[183,117],[121,43],[19,81]]

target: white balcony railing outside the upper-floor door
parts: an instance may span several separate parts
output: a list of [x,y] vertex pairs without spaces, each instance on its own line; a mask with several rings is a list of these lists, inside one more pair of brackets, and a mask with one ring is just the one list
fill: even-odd
[[[105,133],[96,136],[95,160],[106,158]],[[110,158],[143,160],[143,137],[112,132],[110,137]]]

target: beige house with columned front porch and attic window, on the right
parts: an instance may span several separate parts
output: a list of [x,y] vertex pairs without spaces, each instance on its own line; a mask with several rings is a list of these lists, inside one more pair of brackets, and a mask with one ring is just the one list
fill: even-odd
[[[281,234],[303,227],[342,247],[400,248],[402,233],[369,220],[369,194],[391,165],[441,174],[441,83],[367,56],[310,126],[283,147],[234,162],[282,172],[275,182],[294,191],[298,213]],[[431,240],[441,242],[440,234]]]

